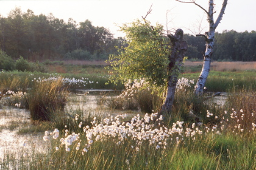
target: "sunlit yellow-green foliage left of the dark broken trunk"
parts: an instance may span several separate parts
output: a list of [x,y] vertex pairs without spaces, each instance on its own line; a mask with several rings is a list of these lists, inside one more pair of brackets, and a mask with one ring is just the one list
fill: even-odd
[[113,73],[111,81],[148,78],[151,84],[166,84],[168,75],[169,39],[163,36],[163,26],[152,27],[148,21],[124,24],[127,47],[118,49],[118,55],[110,55],[108,62]]

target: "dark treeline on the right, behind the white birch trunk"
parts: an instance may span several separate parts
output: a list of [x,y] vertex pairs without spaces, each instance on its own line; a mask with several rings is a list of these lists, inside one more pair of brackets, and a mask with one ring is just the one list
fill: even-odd
[[[193,35],[184,35],[188,42],[189,59],[202,60],[205,51],[205,39]],[[215,61],[256,61],[256,32],[236,32],[224,30],[215,34]]]

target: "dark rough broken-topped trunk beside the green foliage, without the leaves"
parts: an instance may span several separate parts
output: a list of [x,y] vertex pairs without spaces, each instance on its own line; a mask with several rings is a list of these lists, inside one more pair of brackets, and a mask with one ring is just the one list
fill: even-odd
[[185,52],[188,49],[187,42],[183,41],[182,29],[177,29],[175,35],[168,35],[168,37],[171,39],[172,45],[172,52],[169,56],[169,70],[172,74],[169,76],[165,103],[160,110],[160,115],[171,112],[180,67],[182,66]]

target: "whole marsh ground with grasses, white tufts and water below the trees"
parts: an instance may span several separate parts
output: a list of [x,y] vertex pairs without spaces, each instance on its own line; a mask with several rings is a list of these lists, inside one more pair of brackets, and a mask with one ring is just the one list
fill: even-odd
[[[198,72],[182,73],[172,117],[152,124],[162,102],[157,92],[106,85],[103,66],[73,67],[98,74],[0,73],[0,169],[256,168],[254,69],[212,71],[202,98],[193,95]],[[91,88],[123,90],[95,95]],[[210,92],[225,92],[226,101],[216,103]],[[47,121],[31,114],[38,100],[46,100]]]

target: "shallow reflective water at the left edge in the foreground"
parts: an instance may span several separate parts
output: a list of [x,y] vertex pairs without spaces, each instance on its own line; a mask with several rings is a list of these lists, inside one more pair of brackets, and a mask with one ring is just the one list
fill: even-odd
[[[43,141],[42,133],[37,135],[18,135],[18,128],[9,129],[10,121],[16,123],[24,123],[29,121],[29,112],[26,109],[16,109],[13,107],[5,107],[0,109],[0,159],[6,157],[5,154],[12,153],[15,158],[20,158],[24,153],[31,154],[33,148],[37,148],[38,151],[44,152],[47,149],[47,143]],[[25,143],[24,143],[25,141]]]

